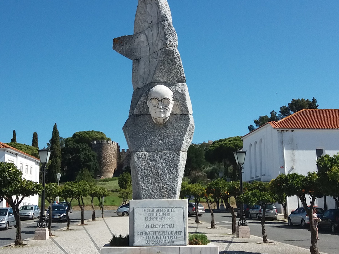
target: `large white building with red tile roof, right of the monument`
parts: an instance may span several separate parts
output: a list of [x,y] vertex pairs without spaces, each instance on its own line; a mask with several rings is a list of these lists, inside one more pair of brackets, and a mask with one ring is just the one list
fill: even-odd
[[[339,109],[303,109],[260,126],[242,140],[243,150],[247,151],[244,181],[268,182],[281,173],[306,175],[317,171],[316,160],[321,155],[339,152]],[[322,208],[324,204],[328,209],[336,208],[329,197],[315,203]],[[288,212],[300,206],[297,197],[287,199]]]

